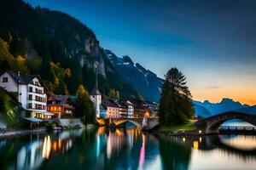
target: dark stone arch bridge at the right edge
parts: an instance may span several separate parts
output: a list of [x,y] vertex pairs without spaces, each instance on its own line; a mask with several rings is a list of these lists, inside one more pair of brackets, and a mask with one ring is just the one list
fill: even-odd
[[228,111],[215,116],[210,116],[195,122],[195,127],[201,129],[204,133],[218,133],[218,127],[231,119],[241,119],[256,126],[256,114],[248,114],[239,111]]

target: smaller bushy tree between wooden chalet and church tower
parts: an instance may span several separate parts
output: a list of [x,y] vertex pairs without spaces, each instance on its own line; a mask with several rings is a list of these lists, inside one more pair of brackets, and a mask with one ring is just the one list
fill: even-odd
[[75,115],[83,117],[85,124],[96,121],[96,111],[90,101],[90,96],[83,85],[79,85],[77,99],[75,100]]

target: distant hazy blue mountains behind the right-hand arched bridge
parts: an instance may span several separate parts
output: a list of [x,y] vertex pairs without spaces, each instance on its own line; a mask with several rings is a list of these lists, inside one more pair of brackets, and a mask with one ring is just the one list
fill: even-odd
[[217,115],[225,111],[236,111],[248,107],[248,105],[241,105],[240,102],[227,98],[222,99],[219,103],[211,103],[208,100],[205,100],[204,102],[194,100],[193,104],[205,107],[212,113],[212,115]]

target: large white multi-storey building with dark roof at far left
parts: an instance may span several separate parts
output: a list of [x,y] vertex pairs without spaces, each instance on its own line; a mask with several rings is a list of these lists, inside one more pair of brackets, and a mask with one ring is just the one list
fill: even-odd
[[30,116],[51,118],[53,115],[46,111],[47,95],[38,75],[20,75],[13,71],[4,71],[0,74],[0,86],[9,92],[17,93],[18,101]]

